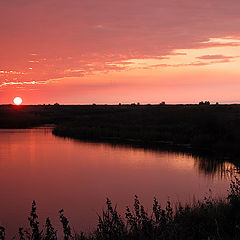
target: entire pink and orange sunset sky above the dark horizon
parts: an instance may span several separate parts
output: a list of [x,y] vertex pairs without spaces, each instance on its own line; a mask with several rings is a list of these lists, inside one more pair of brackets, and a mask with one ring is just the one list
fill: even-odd
[[239,0],[0,0],[0,104],[240,102]]

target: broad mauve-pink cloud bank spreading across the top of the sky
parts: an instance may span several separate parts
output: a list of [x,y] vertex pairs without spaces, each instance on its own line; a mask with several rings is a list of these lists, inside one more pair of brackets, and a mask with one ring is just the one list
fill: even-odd
[[[1,68],[24,73],[19,82],[126,71],[130,59],[240,45],[238,0],[12,0],[1,1],[0,7]],[[213,63],[188,65],[207,64]],[[5,79],[16,82],[13,75],[0,75],[0,81]]]

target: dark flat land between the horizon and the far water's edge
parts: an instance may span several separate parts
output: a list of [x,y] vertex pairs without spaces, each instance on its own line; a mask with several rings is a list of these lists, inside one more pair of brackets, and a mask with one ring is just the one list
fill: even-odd
[[240,153],[240,105],[0,106],[0,128],[44,124],[76,139]]

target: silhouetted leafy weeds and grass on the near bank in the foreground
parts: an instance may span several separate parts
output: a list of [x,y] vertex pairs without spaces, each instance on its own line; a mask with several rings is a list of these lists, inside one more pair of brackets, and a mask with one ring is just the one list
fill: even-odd
[[[125,217],[107,199],[105,210],[98,216],[98,226],[90,234],[73,232],[63,210],[59,211],[59,219],[62,232],[54,229],[49,218],[41,228],[33,202],[29,229],[19,228],[15,237],[21,240],[236,240],[240,238],[240,181],[236,178],[231,182],[226,199],[206,198],[192,205],[178,204],[175,208],[170,202],[162,208],[154,199],[152,212],[147,212],[135,196],[134,205],[126,208]],[[5,234],[5,228],[0,227],[1,240]]]

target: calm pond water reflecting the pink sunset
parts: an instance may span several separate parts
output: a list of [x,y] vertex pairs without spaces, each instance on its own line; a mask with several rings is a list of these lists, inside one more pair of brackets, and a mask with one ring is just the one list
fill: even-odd
[[77,231],[89,231],[106,197],[122,210],[135,194],[147,208],[154,196],[163,204],[168,197],[191,202],[209,189],[224,196],[231,168],[186,154],[63,139],[47,128],[0,130],[0,224],[17,232],[36,200],[40,221],[50,216],[58,226],[63,208]]

